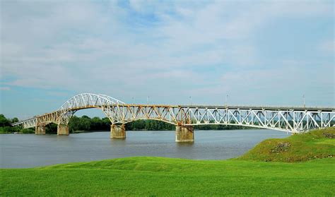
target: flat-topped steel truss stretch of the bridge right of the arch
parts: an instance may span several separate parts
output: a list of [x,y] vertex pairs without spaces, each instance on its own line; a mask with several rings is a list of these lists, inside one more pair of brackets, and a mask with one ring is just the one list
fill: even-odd
[[218,109],[217,107],[181,107],[170,105],[112,105],[105,108],[112,124],[139,119],[154,119],[170,124],[194,126],[223,124],[252,126],[299,133],[310,129],[335,126],[334,110],[295,109]]

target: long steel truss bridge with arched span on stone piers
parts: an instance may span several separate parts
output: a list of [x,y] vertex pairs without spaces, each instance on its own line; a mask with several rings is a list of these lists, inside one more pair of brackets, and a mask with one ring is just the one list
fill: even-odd
[[137,105],[127,104],[101,94],[83,93],[71,97],[54,112],[19,121],[13,126],[35,127],[57,124],[58,135],[69,135],[69,121],[78,110],[98,108],[110,119],[110,137],[126,138],[124,124],[140,119],[165,121],[176,126],[177,142],[193,142],[193,126],[222,124],[302,133],[335,126],[335,107],[266,107],[211,105]]

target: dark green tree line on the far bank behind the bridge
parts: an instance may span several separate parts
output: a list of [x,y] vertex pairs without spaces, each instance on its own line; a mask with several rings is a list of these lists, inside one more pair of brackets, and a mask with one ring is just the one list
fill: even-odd
[[[6,119],[3,114],[0,114],[0,133],[34,133],[35,128],[22,129],[17,126],[11,126],[17,122],[17,118]],[[110,131],[110,119],[107,117],[100,119],[100,117],[90,118],[88,116],[71,117],[69,121],[69,132],[75,131]],[[226,129],[247,129],[244,126],[230,126],[230,125],[199,125],[194,126],[195,130],[226,130]],[[45,126],[45,133],[57,133],[57,124],[48,124]],[[138,120],[126,124],[127,131],[173,131],[175,125],[164,121],[155,120]]]

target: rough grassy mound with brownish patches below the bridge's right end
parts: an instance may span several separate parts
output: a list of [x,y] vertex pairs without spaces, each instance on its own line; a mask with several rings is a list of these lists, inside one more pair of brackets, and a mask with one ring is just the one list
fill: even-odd
[[[240,160],[264,162],[301,162],[316,158],[335,157],[335,128],[319,129],[296,134],[288,138],[268,139],[259,143]],[[328,136],[328,137],[327,137]],[[288,144],[285,151],[276,151],[278,146]]]

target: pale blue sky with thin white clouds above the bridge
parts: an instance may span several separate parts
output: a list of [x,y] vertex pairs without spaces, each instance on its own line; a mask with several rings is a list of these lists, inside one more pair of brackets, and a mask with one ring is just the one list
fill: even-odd
[[335,106],[334,1],[0,4],[6,117],[52,112],[82,92],[173,105],[302,106],[305,95],[307,106]]

